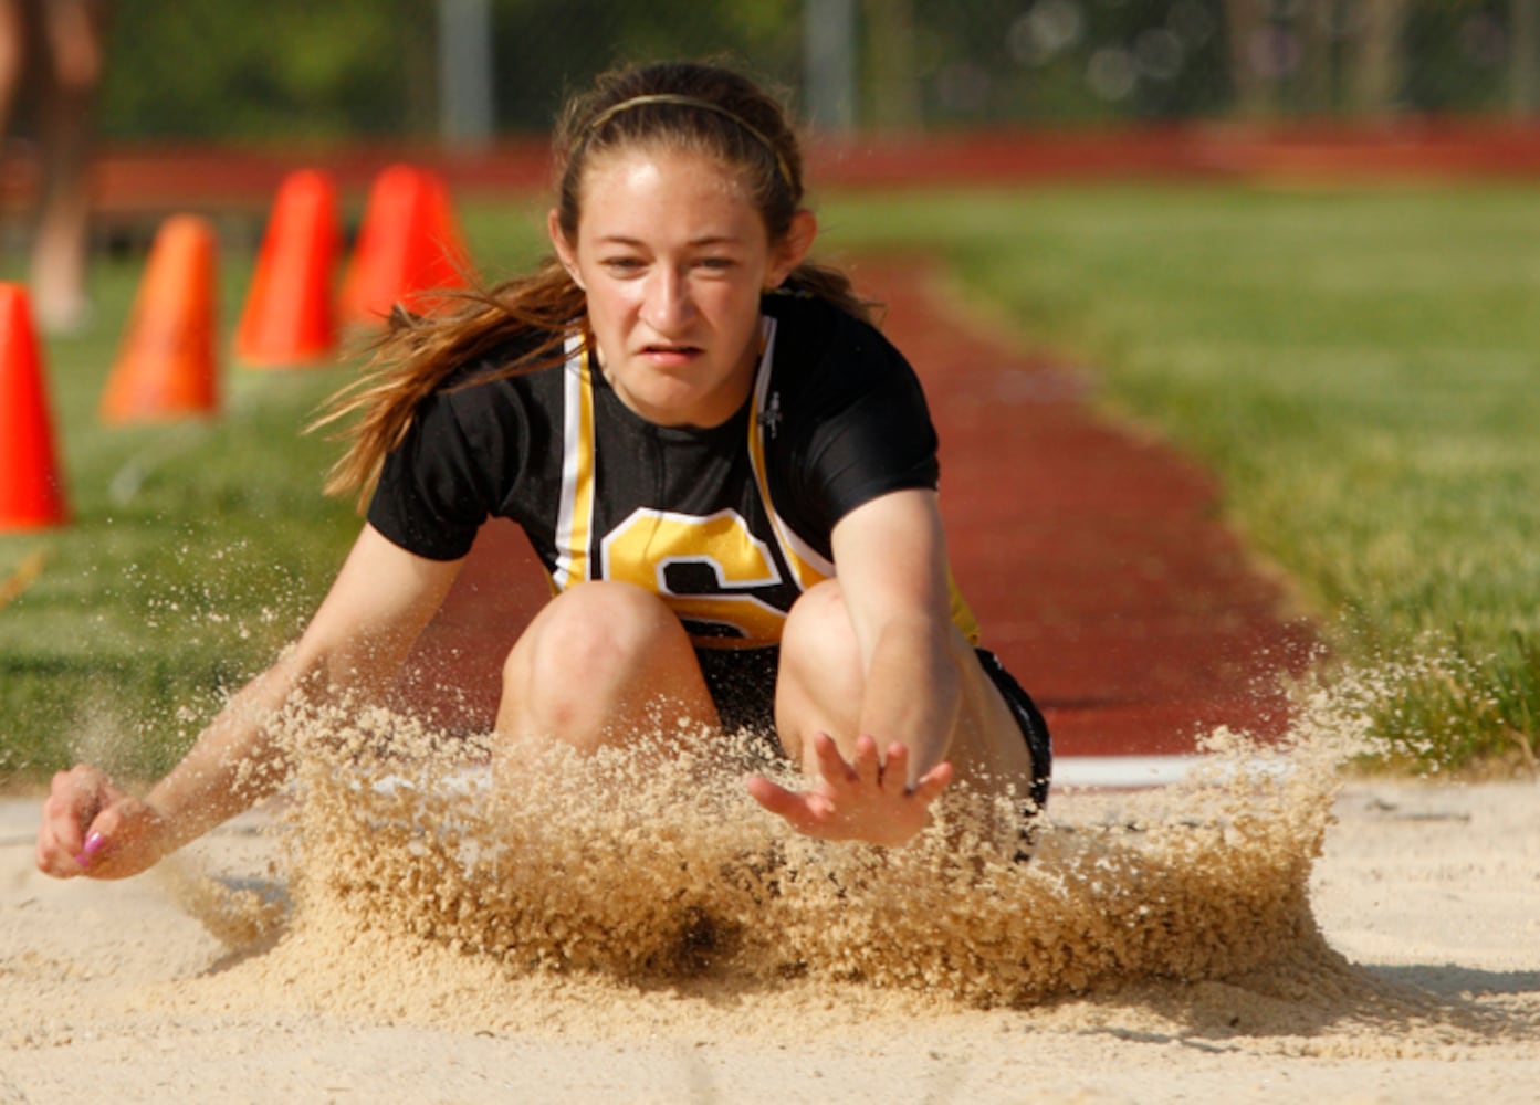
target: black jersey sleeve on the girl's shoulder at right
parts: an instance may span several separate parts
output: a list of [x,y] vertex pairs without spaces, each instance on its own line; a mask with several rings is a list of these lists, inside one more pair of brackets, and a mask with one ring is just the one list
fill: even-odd
[[798,400],[810,417],[787,476],[788,520],[822,545],[856,506],[890,491],[935,488],[939,465],[919,379],[887,339],[844,319],[818,362]]

